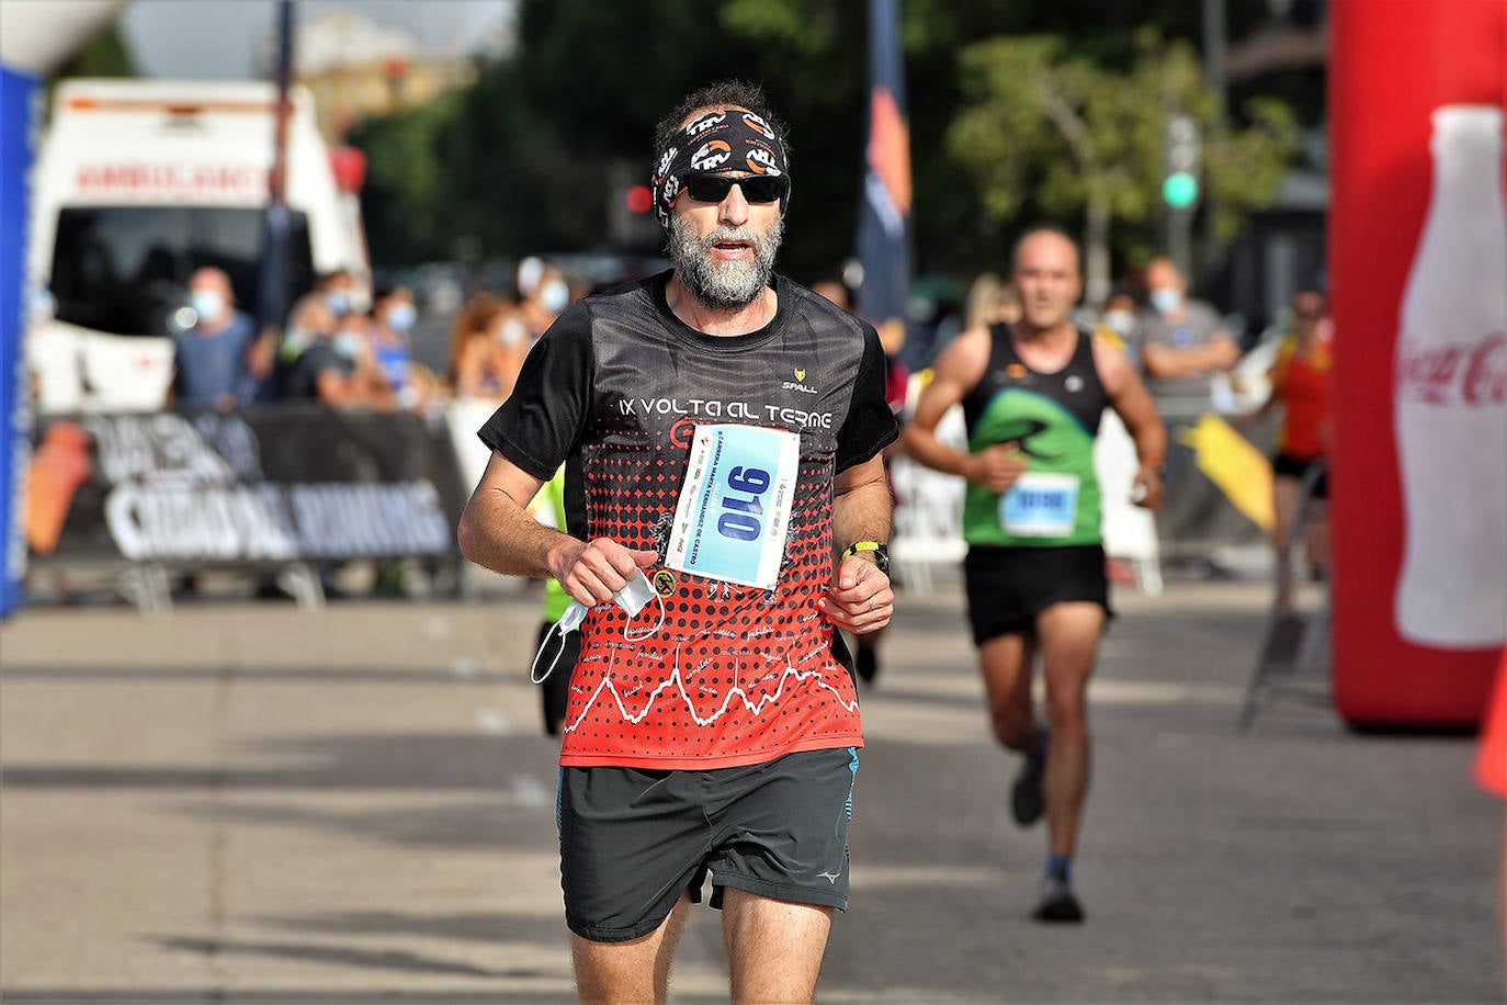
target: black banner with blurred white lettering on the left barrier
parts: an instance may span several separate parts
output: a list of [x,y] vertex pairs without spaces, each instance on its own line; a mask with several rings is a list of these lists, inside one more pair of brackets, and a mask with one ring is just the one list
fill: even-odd
[[316,407],[42,416],[27,481],[59,564],[451,554],[466,505],[443,420]]

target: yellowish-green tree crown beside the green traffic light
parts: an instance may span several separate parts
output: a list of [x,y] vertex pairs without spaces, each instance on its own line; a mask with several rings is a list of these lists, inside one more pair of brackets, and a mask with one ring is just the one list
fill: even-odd
[[[1064,221],[1091,218],[1099,206],[1118,225],[1118,250],[1147,258],[1172,116],[1200,125],[1203,176],[1222,238],[1270,199],[1298,143],[1287,108],[1251,102],[1249,125],[1222,127],[1186,42],[1142,30],[1133,51],[1123,69],[1071,54],[1061,36],[990,38],[961,51],[963,102],[946,143],[993,221],[1014,220],[1032,202]],[[1109,232],[1087,229],[1091,241],[1111,241]]]

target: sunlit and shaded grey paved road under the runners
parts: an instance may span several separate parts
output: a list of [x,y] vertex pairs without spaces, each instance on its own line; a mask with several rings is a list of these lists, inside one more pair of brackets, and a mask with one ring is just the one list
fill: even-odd
[[[1026,919],[955,582],[865,698],[829,1002],[1489,1002],[1501,808],[1471,741],[1279,704],[1234,729],[1266,591],[1117,597],[1078,866]],[[33,609],[0,628],[6,1002],[573,1000],[536,601]],[[695,913],[674,1000],[725,1000]]]

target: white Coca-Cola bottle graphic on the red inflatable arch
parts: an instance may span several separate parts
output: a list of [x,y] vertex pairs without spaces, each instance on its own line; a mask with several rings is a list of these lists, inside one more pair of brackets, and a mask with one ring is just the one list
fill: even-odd
[[1492,648],[1507,640],[1502,110],[1436,108],[1430,151],[1433,194],[1397,339],[1397,630],[1433,648]]

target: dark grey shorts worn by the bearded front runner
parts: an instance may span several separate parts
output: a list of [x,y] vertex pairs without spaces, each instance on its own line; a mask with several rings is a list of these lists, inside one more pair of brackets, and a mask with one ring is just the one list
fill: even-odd
[[562,767],[561,887],[582,939],[627,942],[669,918],[683,892],[723,887],[847,909],[857,750],[666,771]]

